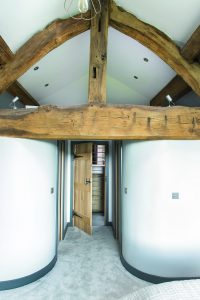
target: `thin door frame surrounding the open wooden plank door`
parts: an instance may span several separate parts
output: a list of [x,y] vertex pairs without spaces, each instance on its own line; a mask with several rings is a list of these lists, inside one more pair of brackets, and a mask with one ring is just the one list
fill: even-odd
[[[105,225],[109,226],[110,222],[108,221],[108,204],[109,201],[112,201],[112,199],[108,200],[109,197],[109,189],[111,188],[109,186],[109,142],[108,141],[91,141],[91,140],[81,140],[81,141],[71,141],[71,186],[70,186],[70,223],[69,226],[73,226],[73,209],[74,209],[74,159],[73,159],[73,149],[74,149],[74,145],[76,144],[81,144],[81,143],[93,143],[95,145],[105,145],[106,148],[106,167],[105,167],[105,177],[106,177],[106,195],[105,195],[105,201],[106,201],[106,211],[104,211],[104,215],[105,215]],[[110,153],[111,154],[111,153]],[[110,157],[110,159],[112,159],[112,157]]]

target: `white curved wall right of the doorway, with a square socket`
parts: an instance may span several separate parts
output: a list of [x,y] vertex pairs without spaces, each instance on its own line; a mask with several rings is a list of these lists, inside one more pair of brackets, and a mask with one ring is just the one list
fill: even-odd
[[200,141],[123,142],[122,153],[124,259],[151,275],[200,276]]

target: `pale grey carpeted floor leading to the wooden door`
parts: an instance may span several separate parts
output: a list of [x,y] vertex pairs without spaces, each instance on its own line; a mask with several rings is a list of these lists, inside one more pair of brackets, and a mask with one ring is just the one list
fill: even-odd
[[149,285],[122,266],[110,227],[90,237],[69,228],[53,270],[27,286],[0,292],[0,300],[112,300]]

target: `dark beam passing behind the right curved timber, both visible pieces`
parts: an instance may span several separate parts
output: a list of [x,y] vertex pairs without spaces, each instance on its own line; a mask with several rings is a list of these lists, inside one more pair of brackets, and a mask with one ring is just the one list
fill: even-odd
[[[198,61],[200,56],[200,26],[193,32],[181,53],[189,62]],[[173,101],[176,102],[191,90],[190,86],[177,75],[150,101],[150,105],[166,106],[168,104],[165,100],[166,95],[172,96]]]

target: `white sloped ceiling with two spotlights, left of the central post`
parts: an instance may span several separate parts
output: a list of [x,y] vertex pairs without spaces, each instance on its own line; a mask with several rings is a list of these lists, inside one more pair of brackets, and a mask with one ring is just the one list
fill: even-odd
[[[88,73],[89,43],[89,31],[69,40],[29,69],[19,82],[39,103],[59,90],[70,88],[71,83]],[[34,71],[35,67],[39,69]],[[46,87],[46,84],[49,85]],[[86,90],[87,86],[86,82]],[[68,101],[66,98],[67,94],[63,105]],[[53,104],[56,104],[56,99]]]

